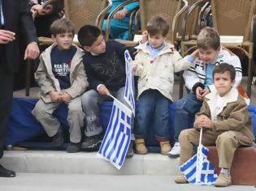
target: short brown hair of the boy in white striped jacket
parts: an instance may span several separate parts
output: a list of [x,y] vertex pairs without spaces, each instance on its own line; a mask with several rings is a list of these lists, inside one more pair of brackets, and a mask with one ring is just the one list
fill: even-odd
[[220,39],[219,33],[215,28],[202,28],[197,36],[197,48],[198,49],[219,49]]

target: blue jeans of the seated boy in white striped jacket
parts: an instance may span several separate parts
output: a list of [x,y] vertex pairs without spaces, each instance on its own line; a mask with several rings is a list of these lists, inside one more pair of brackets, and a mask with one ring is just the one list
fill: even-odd
[[191,128],[191,121],[195,117],[195,114],[200,111],[201,107],[202,100],[197,100],[193,92],[176,102],[176,116],[174,122],[175,142],[179,142],[179,135],[183,129]]

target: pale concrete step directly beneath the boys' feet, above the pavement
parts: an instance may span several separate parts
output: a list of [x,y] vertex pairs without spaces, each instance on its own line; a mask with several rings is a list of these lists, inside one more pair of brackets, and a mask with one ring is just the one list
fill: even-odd
[[5,151],[0,163],[15,172],[87,174],[87,175],[169,175],[176,176],[178,159],[166,155],[133,155],[118,170],[99,159],[97,152],[69,154],[66,151]]

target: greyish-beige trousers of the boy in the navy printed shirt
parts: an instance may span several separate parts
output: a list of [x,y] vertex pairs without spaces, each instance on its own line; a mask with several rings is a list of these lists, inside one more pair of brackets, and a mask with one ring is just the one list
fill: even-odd
[[[34,117],[46,130],[46,134],[52,137],[57,133],[60,123],[52,114],[62,102],[45,103],[43,100],[38,100],[35,108],[32,111]],[[82,110],[80,96],[72,99],[68,104],[67,122],[69,125],[70,141],[77,143],[81,140],[81,128],[84,125],[85,114]]]

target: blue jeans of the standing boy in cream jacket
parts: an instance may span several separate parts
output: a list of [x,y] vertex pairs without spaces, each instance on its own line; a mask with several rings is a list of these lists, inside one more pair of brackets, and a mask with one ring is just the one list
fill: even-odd
[[169,140],[170,101],[157,90],[144,91],[139,97],[134,128],[135,138],[146,138],[147,129],[154,123],[158,141]]

